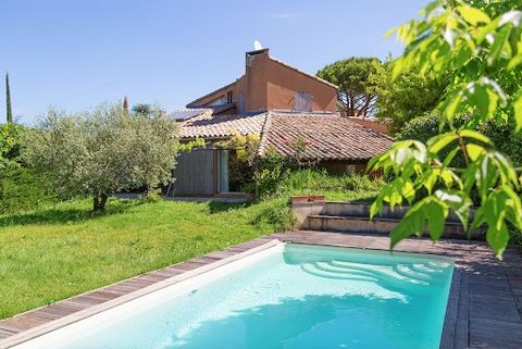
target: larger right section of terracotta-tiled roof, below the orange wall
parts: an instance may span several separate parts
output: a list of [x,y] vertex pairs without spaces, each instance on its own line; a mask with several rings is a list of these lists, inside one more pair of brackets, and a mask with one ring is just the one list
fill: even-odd
[[338,115],[269,113],[260,154],[274,148],[294,155],[291,142],[302,139],[303,159],[368,160],[385,152],[393,138]]

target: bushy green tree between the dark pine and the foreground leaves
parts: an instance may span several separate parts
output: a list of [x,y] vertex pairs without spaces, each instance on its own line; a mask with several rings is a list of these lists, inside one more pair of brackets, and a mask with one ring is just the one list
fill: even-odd
[[419,68],[408,66],[394,79],[394,61],[388,59],[384,67],[385,74],[377,88],[377,116],[396,134],[412,119],[435,109],[444,96],[448,77],[437,79],[430,73],[421,75]]

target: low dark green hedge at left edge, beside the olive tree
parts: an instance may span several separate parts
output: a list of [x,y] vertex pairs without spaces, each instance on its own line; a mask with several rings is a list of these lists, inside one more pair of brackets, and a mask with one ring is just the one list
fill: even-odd
[[45,178],[26,167],[0,170],[0,214],[34,210],[54,201]]

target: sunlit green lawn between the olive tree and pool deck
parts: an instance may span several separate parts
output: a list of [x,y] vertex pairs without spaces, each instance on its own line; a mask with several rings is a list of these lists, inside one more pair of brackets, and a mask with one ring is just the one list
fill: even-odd
[[0,319],[284,229],[283,199],[258,204],[90,200],[0,216]]

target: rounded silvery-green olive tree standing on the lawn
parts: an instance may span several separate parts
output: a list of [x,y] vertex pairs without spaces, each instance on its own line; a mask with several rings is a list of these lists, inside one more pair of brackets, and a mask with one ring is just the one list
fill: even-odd
[[175,165],[176,125],[156,111],[128,117],[122,107],[67,114],[54,109],[25,134],[28,162],[63,197],[91,196],[94,211],[123,189],[166,184]]

